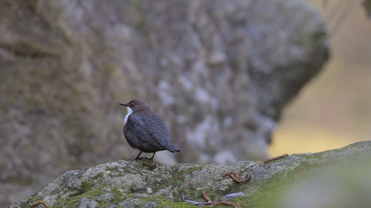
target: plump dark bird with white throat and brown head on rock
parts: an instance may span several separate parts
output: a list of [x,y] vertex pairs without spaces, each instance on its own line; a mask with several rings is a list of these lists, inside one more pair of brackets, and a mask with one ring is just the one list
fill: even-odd
[[152,153],[153,160],[157,151],[180,152],[170,139],[170,132],[162,119],[152,111],[148,103],[134,99],[129,103],[119,103],[127,108],[124,120],[126,141],[134,150],[140,150],[135,160],[141,159],[142,152]]

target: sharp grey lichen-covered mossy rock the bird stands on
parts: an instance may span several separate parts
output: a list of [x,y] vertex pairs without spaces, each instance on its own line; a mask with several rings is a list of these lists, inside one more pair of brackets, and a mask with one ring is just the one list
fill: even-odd
[[[350,145],[336,151],[289,155],[285,160],[267,164],[242,161],[236,164],[177,164],[170,167],[153,161],[109,162],[80,171],[68,171],[10,208],[26,208],[40,199],[56,208],[75,205],[187,207],[187,203],[179,203],[181,194],[193,201],[202,201],[203,190],[213,201],[222,200],[223,196],[234,192],[243,192],[247,197],[234,197],[230,199],[233,202],[267,201],[269,194],[282,191],[293,181],[315,172],[313,170],[370,161],[369,143],[363,142],[356,147]],[[124,170],[120,175],[109,174],[119,168]],[[298,168],[306,170],[301,172],[300,177],[297,177]],[[223,177],[229,171],[238,173],[241,179],[249,174],[250,179],[240,183],[232,180],[230,175]]]

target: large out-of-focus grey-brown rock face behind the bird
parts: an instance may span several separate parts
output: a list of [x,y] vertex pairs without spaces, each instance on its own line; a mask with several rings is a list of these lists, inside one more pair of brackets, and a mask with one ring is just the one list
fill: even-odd
[[328,57],[299,0],[9,0],[0,19],[8,204],[64,171],[133,158],[118,105],[133,98],[182,149],[162,162],[263,160],[282,107]]

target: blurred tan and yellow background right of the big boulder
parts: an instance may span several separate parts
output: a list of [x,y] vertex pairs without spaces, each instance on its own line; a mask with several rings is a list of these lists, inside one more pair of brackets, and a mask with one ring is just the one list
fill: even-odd
[[269,147],[272,156],[371,140],[371,19],[361,0],[307,1],[328,31],[334,28],[331,58],[286,106]]

